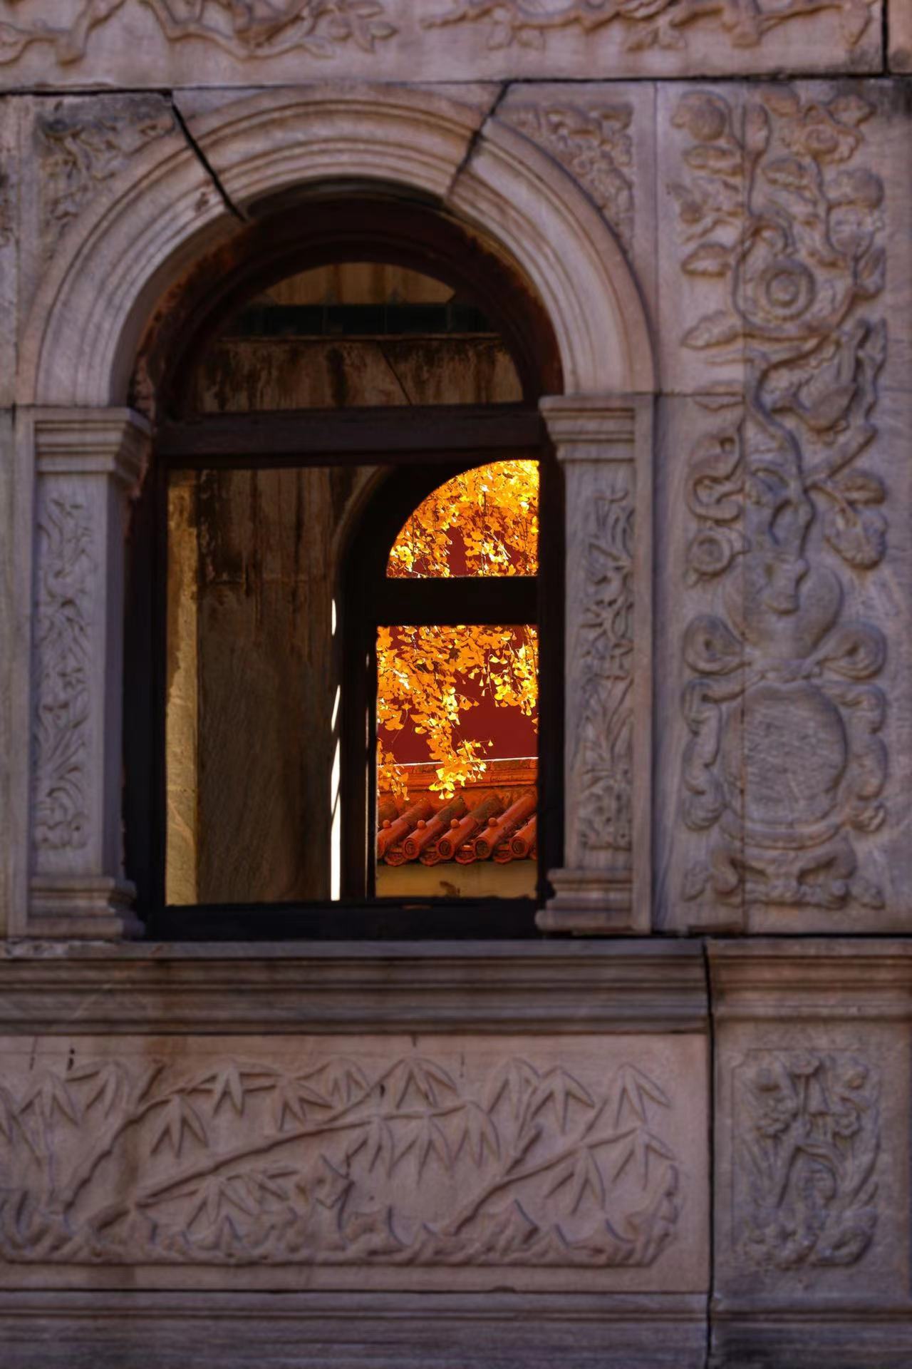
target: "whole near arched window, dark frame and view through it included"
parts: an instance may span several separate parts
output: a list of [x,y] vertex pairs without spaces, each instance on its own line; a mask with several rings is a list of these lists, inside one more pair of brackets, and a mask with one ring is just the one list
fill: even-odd
[[494,315],[446,268],[324,261],[238,289],[172,374],[127,684],[153,935],[533,934],[562,515]]

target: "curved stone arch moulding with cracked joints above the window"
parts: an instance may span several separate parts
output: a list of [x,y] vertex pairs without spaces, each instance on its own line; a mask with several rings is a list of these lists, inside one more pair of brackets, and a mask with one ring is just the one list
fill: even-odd
[[[484,111],[402,88],[314,86],[191,122],[242,215],[327,178],[433,197],[500,244],[539,292],[566,394],[652,392],[643,301],[610,227],[556,163]],[[124,402],[155,300],[235,222],[176,133],[135,156],[38,290],[22,349],[27,400]]]

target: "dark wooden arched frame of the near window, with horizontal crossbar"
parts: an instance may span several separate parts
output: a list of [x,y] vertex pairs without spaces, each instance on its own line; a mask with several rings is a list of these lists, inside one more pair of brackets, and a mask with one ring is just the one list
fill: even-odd
[[[124,845],[127,873],[138,890],[138,913],[149,936],[163,939],[537,935],[532,899],[517,904],[461,899],[450,905],[435,901],[432,910],[403,902],[388,906],[381,899],[324,906],[164,906],[164,509],[168,471],[178,467],[256,464],[268,468],[343,461],[386,465],[390,479],[371,505],[371,522],[375,523],[381,522],[379,515],[387,502],[391,508],[395,505],[398,468],[407,470],[409,486],[417,496],[421,482],[424,493],[429,493],[448,474],[472,465],[522,456],[540,461],[539,898],[546,894],[544,872],[561,867],[563,856],[563,482],[537,412],[539,397],[561,394],[563,379],[547,311],[531,282],[499,246],[479,230],[461,225],[436,203],[407,199],[398,188],[368,193],[364,188],[353,190],[346,182],[327,182],[313,192],[295,190],[260,201],[250,209],[250,220],[196,263],[170,292],[141,341],[133,379],[134,402],[142,407],[145,397],[153,393],[159,416],[155,463],[131,519],[127,586]],[[196,361],[238,309],[258,292],[297,271],[338,261],[401,264],[444,281],[466,301],[481,301],[485,316],[513,357],[522,402],[189,416],[189,382]],[[398,527],[383,549],[384,556],[397,531]],[[350,565],[362,567],[364,557],[373,556],[376,567],[380,535],[373,538],[366,523],[361,533],[358,545],[351,548]],[[361,570],[360,590],[364,583]],[[502,591],[494,578],[476,580],[472,587],[468,580],[461,585],[465,611],[459,611],[459,622],[521,616],[518,608],[498,600]],[[345,600],[345,586],[340,590]],[[391,593],[406,591],[394,589]],[[423,593],[427,591],[414,590],[416,596]],[[446,593],[448,590],[442,590]],[[522,612],[526,609],[528,604]],[[399,611],[414,619],[417,598],[407,609],[401,604]],[[446,617],[450,611],[444,604],[427,612],[442,622],[440,613]],[[384,616],[390,616],[386,609]],[[349,637],[353,631],[349,624]],[[369,630],[361,631],[364,648]],[[357,638],[357,632],[354,635]],[[362,652],[362,665],[365,656]],[[368,671],[369,667],[368,660]],[[369,720],[364,705],[360,706],[357,723],[346,717],[343,738],[356,747],[361,735],[364,756],[368,737],[361,728],[368,730]],[[369,749],[373,757],[373,734]],[[365,778],[365,795],[366,783]],[[366,797],[357,830],[361,836],[349,838],[351,847],[343,864],[349,858],[364,861],[364,843],[372,841]],[[494,902],[496,917],[492,917]]]

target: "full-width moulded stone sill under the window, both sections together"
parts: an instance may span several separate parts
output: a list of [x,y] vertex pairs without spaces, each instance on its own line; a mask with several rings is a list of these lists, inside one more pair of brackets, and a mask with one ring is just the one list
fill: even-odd
[[909,1020],[912,938],[0,945],[7,1032],[706,1032],[710,1010]]

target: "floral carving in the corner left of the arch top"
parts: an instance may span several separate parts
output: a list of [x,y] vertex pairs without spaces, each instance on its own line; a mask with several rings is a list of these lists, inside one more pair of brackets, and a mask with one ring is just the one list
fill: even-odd
[[108,116],[101,112],[104,97],[93,104],[98,112],[89,114],[82,103],[75,108],[64,105],[38,125],[48,255],[97,186],[174,127],[171,111],[156,96],[134,97],[129,105],[118,103]]

